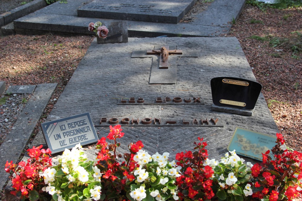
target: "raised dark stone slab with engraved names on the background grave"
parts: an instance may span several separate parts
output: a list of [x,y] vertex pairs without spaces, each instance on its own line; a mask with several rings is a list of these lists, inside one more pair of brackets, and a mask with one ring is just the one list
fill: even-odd
[[177,24],[197,0],[95,0],[78,8],[78,16]]

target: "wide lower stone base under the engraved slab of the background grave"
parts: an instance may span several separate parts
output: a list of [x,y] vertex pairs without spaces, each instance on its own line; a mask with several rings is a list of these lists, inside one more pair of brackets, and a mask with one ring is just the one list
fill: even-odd
[[[76,8],[88,0],[69,0],[67,4],[53,3],[33,14],[14,21],[16,33],[80,33],[88,34],[87,26],[90,22],[104,19],[93,17],[77,17]],[[230,31],[233,19],[236,19],[243,9],[245,0],[219,0],[211,5],[190,23],[157,23],[128,20],[129,37],[157,37],[157,36],[218,36]],[[93,12],[92,12],[93,13]],[[117,20],[118,21],[118,20]],[[88,24],[87,24],[88,23]]]

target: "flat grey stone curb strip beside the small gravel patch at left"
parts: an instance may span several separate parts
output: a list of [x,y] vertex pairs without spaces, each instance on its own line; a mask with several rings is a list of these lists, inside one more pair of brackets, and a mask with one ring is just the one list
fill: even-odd
[[[7,160],[17,162],[56,86],[57,83],[52,83],[39,84],[36,87],[34,94],[28,100],[12,130],[0,146],[0,167],[4,167]],[[5,172],[4,168],[0,168],[0,189],[5,185],[8,176],[9,174]]]

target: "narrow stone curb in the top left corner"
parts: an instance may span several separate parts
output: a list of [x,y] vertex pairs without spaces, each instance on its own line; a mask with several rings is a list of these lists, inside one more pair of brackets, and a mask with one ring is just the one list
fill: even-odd
[[45,6],[47,6],[47,3],[44,0],[34,0],[25,5],[19,6],[18,8],[14,8],[3,14],[0,14],[0,27]]

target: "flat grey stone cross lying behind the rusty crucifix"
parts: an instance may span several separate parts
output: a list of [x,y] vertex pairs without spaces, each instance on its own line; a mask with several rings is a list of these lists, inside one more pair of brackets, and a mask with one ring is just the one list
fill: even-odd
[[[162,47],[165,47],[167,50],[166,58],[163,61],[163,54],[161,52]],[[169,51],[170,49],[170,51]],[[172,51],[171,51],[172,50]],[[174,52],[175,51],[175,52]],[[149,79],[149,84],[175,84],[176,83],[176,57],[198,57],[197,51],[185,51],[185,50],[177,50],[176,46],[155,46],[153,50],[145,51],[133,51],[131,58],[146,58],[146,57],[154,57],[153,55],[158,55],[158,62],[152,61],[151,74]],[[154,58],[153,58],[154,59]]]

